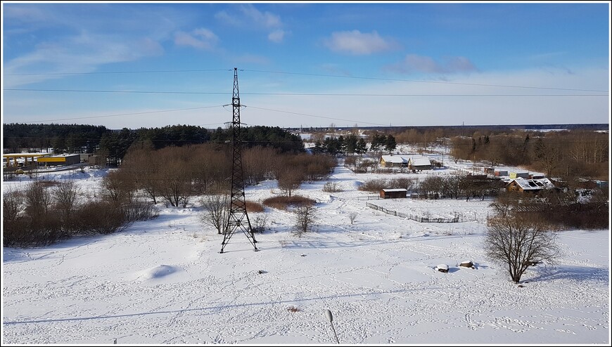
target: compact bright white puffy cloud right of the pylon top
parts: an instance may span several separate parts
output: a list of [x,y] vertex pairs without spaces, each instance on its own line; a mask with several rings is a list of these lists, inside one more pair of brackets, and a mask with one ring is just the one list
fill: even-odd
[[350,32],[333,32],[324,39],[324,45],[334,52],[367,55],[390,51],[395,44],[392,40],[383,39],[378,32],[362,33],[359,30]]

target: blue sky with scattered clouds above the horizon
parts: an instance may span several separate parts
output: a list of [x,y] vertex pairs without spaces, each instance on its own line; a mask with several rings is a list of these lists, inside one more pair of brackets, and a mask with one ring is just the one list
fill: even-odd
[[2,2],[3,123],[610,119],[610,4]]

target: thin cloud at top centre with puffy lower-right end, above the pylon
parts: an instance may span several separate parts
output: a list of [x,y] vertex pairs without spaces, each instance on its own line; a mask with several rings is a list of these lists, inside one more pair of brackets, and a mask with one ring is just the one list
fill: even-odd
[[[286,37],[286,30],[283,30],[283,22],[279,15],[269,11],[259,11],[252,4],[238,6],[236,14],[227,11],[215,13],[215,18],[227,25],[248,26],[254,29],[268,31],[268,40],[279,44]],[[272,30],[272,31],[270,31]]]

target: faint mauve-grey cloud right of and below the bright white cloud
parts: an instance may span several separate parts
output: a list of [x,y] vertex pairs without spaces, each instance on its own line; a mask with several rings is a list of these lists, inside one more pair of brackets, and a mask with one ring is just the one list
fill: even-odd
[[408,54],[404,60],[393,65],[388,65],[385,70],[401,73],[440,73],[452,74],[457,72],[476,72],[478,69],[465,57],[446,57],[442,61],[436,61],[424,55]]

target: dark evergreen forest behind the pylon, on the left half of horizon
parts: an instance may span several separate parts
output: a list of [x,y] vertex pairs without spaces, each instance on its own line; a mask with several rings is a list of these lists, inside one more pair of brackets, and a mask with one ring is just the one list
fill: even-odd
[[[173,125],[162,128],[110,130],[105,126],[79,124],[3,124],[4,151],[41,152],[53,148],[55,153],[98,153],[120,162],[130,146],[148,145],[158,150],[165,147],[226,143],[231,140],[231,129],[208,130],[200,126]],[[300,136],[278,126],[250,126],[242,128],[245,148],[260,146],[280,152],[304,152]]]

